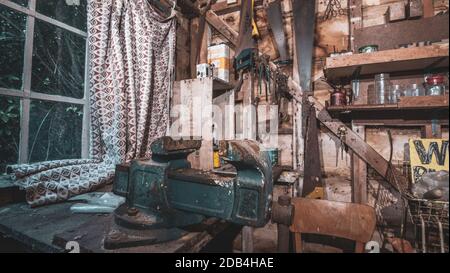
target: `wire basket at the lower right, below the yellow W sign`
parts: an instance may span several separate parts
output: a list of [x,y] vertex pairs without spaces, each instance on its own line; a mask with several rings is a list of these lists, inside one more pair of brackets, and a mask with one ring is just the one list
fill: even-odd
[[[408,211],[416,229],[420,230],[419,249],[448,252],[448,204],[446,201],[408,199]],[[417,235],[417,234],[416,234]]]

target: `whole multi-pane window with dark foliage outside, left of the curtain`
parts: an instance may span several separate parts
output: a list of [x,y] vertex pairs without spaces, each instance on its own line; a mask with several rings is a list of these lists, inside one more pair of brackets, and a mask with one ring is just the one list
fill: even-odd
[[0,1],[0,174],[86,156],[86,3]]

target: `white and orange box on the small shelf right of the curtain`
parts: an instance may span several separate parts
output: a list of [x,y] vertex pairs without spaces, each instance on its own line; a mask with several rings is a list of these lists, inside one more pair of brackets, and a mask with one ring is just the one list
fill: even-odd
[[230,47],[226,44],[208,47],[208,63],[211,64],[213,75],[226,82],[230,80]]

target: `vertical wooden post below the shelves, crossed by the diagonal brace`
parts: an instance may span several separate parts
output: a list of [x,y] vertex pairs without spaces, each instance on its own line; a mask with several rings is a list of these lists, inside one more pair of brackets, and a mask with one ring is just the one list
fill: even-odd
[[[352,130],[366,139],[365,126],[352,124]],[[352,202],[367,203],[367,164],[357,154],[351,153],[352,158]]]

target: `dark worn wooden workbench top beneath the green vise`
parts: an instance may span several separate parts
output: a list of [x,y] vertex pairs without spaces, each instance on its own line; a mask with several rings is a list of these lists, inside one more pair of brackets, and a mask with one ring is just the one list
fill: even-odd
[[106,250],[104,235],[113,217],[110,214],[74,214],[73,203],[30,208],[25,202],[0,206],[0,233],[22,243],[30,251],[64,252],[68,241],[76,241],[81,252],[199,252],[225,233],[230,224],[209,218],[190,227],[186,235],[163,244]]

